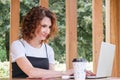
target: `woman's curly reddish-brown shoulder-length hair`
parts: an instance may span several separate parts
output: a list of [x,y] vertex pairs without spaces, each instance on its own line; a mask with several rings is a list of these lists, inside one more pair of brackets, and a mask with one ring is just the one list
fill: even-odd
[[32,40],[36,36],[35,35],[36,28],[38,27],[38,25],[40,25],[44,17],[50,18],[52,23],[50,34],[47,36],[46,40],[44,41],[46,42],[50,37],[54,37],[54,35],[57,32],[56,15],[45,7],[36,6],[33,7],[27,13],[27,15],[24,17],[22,21],[22,28],[21,28],[22,38],[27,41]]

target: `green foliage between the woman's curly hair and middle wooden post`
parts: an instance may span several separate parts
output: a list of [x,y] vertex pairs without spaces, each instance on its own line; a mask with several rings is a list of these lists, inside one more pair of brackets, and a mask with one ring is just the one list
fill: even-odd
[[49,0],[50,9],[57,16],[58,34],[50,45],[55,51],[55,59],[59,62],[65,62],[65,0]]

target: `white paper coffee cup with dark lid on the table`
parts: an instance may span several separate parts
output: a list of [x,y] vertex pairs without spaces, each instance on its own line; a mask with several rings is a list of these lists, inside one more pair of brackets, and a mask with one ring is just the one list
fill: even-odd
[[75,80],[85,80],[86,77],[86,64],[85,59],[73,59],[73,69]]

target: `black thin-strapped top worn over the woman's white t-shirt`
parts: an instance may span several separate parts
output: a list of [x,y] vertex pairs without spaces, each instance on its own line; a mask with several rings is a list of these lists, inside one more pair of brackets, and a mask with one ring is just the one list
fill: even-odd
[[[20,42],[23,44],[22,41],[20,41]],[[23,44],[23,46],[24,46],[24,44]],[[36,58],[36,57],[30,57],[30,56],[26,56],[26,57],[34,67],[48,70],[49,69],[49,61],[48,61],[46,44],[45,44],[45,50],[46,50],[47,58]],[[12,77],[13,78],[26,78],[28,76],[19,68],[19,66],[17,65],[16,62],[13,62],[12,63]]]

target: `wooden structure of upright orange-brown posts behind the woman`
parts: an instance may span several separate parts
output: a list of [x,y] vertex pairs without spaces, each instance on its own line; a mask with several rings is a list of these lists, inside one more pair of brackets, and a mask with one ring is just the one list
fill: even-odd
[[[48,7],[49,0],[40,0],[40,5]],[[19,0],[11,0],[10,43],[18,39]],[[74,12],[74,13],[73,13]],[[103,41],[102,0],[92,0],[93,63],[94,71],[98,63],[100,44]],[[77,56],[77,0],[66,0],[66,64],[72,67],[72,59]],[[106,42],[116,45],[112,76],[120,77],[120,0],[106,0]],[[108,56],[109,58],[109,56]]]

